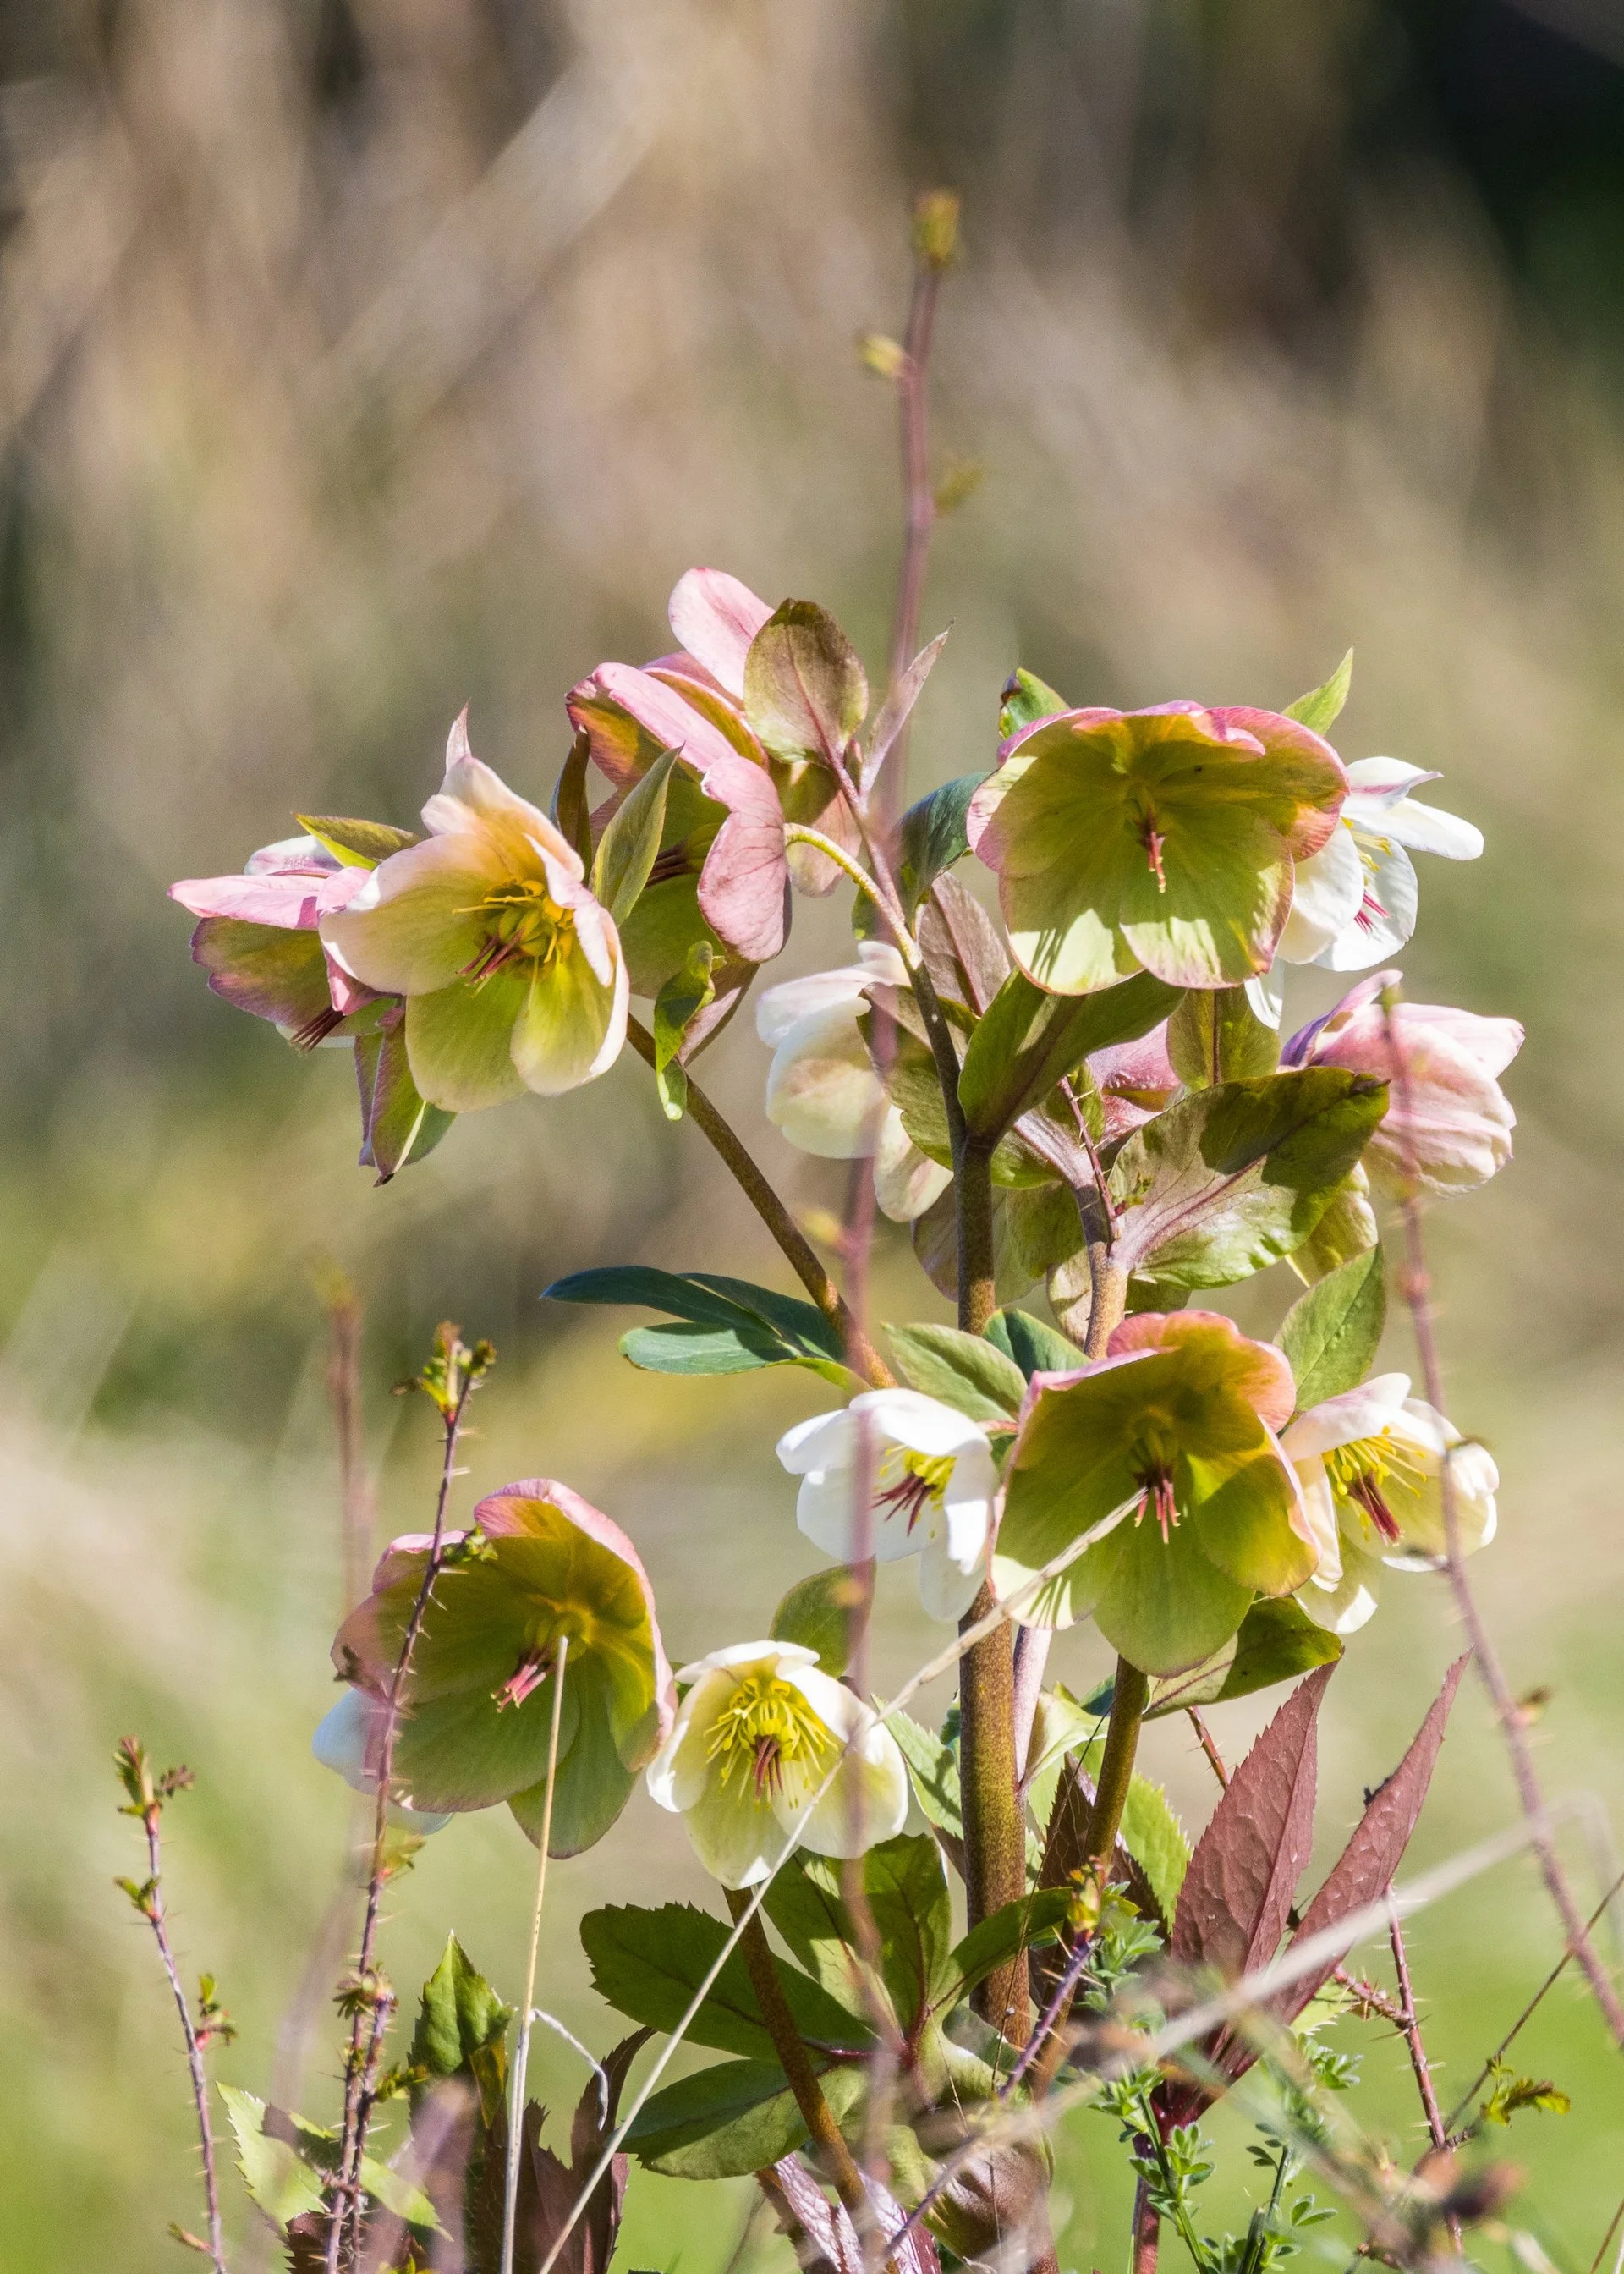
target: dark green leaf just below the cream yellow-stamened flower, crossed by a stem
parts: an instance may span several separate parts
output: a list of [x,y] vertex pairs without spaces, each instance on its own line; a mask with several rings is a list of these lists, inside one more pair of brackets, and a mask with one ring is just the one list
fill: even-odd
[[[580,1940],[591,1960],[598,1997],[632,2022],[673,2031],[716,1962],[728,1928],[691,1903],[662,1903],[660,1910],[612,1903],[587,1912]],[[869,2044],[869,2024],[839,2006],[828,1990],[794,1967],[780,1967],[778,1974],[796,2028],[810,2047],[830,2053],[862,2051]],[[773,2058],[773,2040],[737,1949],[728,1953],[705,2003],[689,2022],[689,2038],[751,2060]]]

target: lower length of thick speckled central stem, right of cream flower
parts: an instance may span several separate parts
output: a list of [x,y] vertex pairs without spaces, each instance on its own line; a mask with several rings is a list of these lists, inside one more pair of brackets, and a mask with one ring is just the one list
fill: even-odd
[[[960,1633],[994,1610],[983,1587]],[[1026,1894],[1026,1831],[1014,1790],[1014,1644],[1005,1621],[964,1651],[958,1678],[960,1785],[964,1801],[964,1901],[976,1926]],[[999,1967],[976,1990],[971,2003],[1003,2031],[1010,2044],[1026,2044],[1030,2028],[1026,1951]]]

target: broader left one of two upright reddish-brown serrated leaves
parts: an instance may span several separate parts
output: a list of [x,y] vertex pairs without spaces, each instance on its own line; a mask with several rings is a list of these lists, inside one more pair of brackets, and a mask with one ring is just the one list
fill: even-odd
[[1315,1833],[1315,1719],[1335,1667],[1281,1706],[1190,1858],[1171,1956],[1235,1978],[1274,1956]]

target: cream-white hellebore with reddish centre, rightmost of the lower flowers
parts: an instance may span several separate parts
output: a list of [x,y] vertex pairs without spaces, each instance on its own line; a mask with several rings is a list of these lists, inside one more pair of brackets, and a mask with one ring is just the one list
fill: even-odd
[[[1453,1453],[1449,1451],[1453,1446]],[[1296,1601],[1351,1635],[1376,1610],[1381,1567],[1433,1571],[1444,1555],[1444,1455],[1467,1555],[1494,1537],[1499,1471],[1481,1444],[1422,1399],[1408,1373],[1376,1373],[1299,1414],[1281,1437],[1303,1487],[1319,1569]]]

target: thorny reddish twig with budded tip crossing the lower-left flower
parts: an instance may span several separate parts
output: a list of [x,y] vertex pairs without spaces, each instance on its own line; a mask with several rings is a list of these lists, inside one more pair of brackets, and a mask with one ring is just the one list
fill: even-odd
[[400,1640],[400,1655],[389,1680],[389,1696],[384,1699],[384,1721],[378,1746],[378,1803],[373,1810],[373,1860],[366,1876],[362,1947],[350,1978],[355,2015],[350,2022],[350,2047],[343,2063],[343,2126],[339,2131],[339,2178],[332,2190],[325,2274],[339,2274],[346,2208],[353,2213],[359,2235],[362,2156],[366,2151],[366,2126],[371,2124],[378,2088],[378,2060],[382,2053],[384,2031],[389,2028],[389,2012],[393,2008],[393,1994],[382,1981],[378,1981],[373,1960],[378,1951],[378,1917],[382,1910],[384,1881],[389,1878],[389,1787],[393,1783],[400,1706],[412,1674],[416,1637],[421,1635],[423,1619],[428,1617],[434,1580],[444,1569],[446,1508],[457,1476],[457,1437],[462,1435],[462,1417],[469,1408],[469,1399],[489,1373],[494,1360],[496,1351],[489,1342],[478,1342],[469,1351],[464,1348],[455,1326],[441,1326],[434,1335],[434,1358],[428,1367],[423,1367],[423,1373],[412,1385],[421,1385],[439,1408],[444,1424],[444,1458],[439,1469],[439,1494],[434,1499],[434,1533],[430,1537],[428,1562],[423,1567],[423,1583],[416,1592],[412,1617],[407,1619],[407,1628]]

